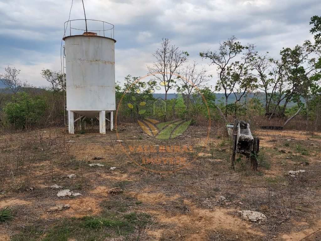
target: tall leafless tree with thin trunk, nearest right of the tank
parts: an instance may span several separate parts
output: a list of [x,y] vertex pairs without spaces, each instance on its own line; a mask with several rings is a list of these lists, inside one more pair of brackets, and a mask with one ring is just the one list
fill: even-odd
[[153,74],[154,80],[164,86],[164,118],[166,119],[167,93],[175,84],[179,67],[187,62],[188,53],[183,52],[175,45],[172,45],[169,39],[163,38],[160,47],[156,49],[152,55],[155,57],[155,61],[152,63],[152,66],[147,66],[147,69],[149,74]]

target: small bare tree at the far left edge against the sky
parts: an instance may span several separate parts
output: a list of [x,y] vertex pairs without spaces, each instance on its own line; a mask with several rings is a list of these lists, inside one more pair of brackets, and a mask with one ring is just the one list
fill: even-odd
[[0,81],[15,95],[19,90],[22,89],[23,85],[25,84],[22,83],[22,81],[18,78],[21,70],[9,66],[4,68],[4,70],[6,73],[0,74]]

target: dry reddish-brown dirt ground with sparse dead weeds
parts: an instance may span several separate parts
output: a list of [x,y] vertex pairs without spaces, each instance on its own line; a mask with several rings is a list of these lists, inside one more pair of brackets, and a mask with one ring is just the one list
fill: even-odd
[[[123,146],[155,144],[132,124],[123,127]],[[236,170],[230,169],[231,142],[224,130],[212,127],[207,138],[204,127],[191,126],[175,145],[193,146],[195,152],[182,154],[188,160],[206,143],[205,148],[193,163],[169,173],[161,172],[162,166],[155,173],[135,165],[115,131],[70,135],[52,128],[3,134],[0,208],[10,207],[14,219],[0,224],[0,240],[33,240],[21,237],[25,227],[36,224],[42,225],[43,235],[34,240],[44,240],[63,219],[103,215],[106,203],[125,205],[123,213],[147,213],[152,223],[136,228],[135,236],[95,240],[321,240],[321,134],[262,129],[252,134],[260,138],[257,171],[245,157]],[[305,173],[291,177],[290,170]],[[59,190],[49,188],[53,184],[82,195],[57,197]],[[123,192],[108,194],[112,187]],[[48,211],[59,204],[70,208]],[[267,218],[246,221],[239,210],[259,211]]]

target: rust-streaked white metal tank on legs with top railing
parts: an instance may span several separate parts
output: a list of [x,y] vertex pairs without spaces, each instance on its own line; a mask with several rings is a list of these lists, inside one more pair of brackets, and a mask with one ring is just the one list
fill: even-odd
[[85,26],[84,21],[65,22],[65,31],[69,29],[69,36],[63,38],[69,133],[74,133],[74,112],[88,118],[99,116],[100,133],[106,133],[105,113],[111,112],[112,129],[112,111],[116,110],[114,26],[86,20],[91,30],[83,30],[79,24]]

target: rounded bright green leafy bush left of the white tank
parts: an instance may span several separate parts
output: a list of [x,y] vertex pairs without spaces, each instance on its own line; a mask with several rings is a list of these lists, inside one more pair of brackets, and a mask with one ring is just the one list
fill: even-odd
[[13,101],[6,104],[4,113],[6,120],[16,128],[30,128],[45,116],[47,99],[42,96],[20,92],[17,98],[13,96]]

